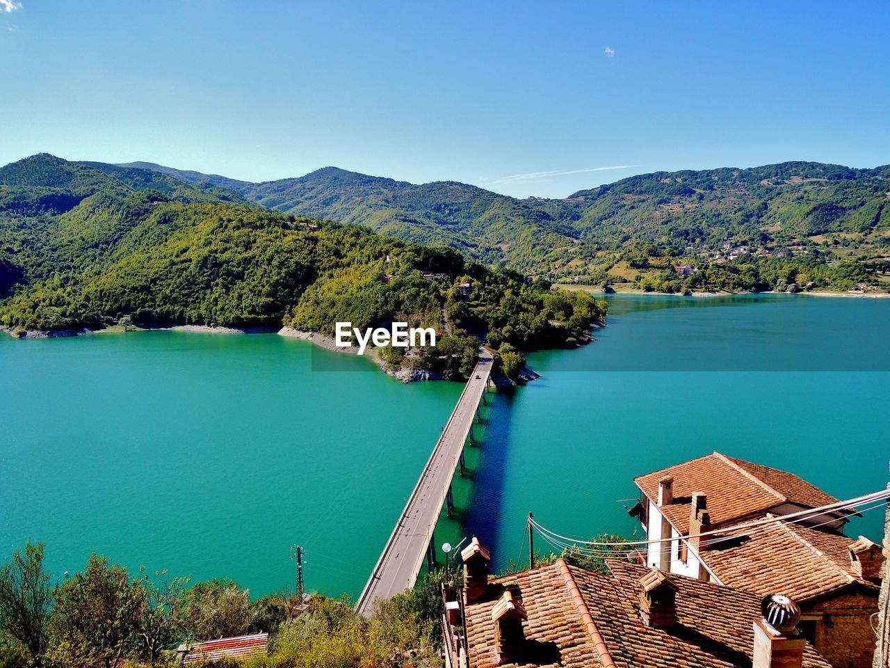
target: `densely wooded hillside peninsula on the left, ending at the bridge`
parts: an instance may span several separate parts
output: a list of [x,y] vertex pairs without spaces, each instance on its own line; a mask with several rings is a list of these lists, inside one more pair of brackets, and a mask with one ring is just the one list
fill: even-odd
[[410,363],[449,377],[472,369],[481,339],[510,354],[572,346],[604,314],[588,296],[451,248],[273,212],[210,183],[47,155],[0,169],[0,251],[0,322],[13,331],[132,322],[332,335],[337,321],[393,320],[444,331],[444,313],[451,333]]

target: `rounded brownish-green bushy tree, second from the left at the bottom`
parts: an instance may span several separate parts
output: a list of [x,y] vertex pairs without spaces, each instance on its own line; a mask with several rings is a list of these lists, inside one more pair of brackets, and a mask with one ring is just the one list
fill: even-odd
[[94,553],[84,573],[55,592],[50,656],[62,665],[111,668],[139,639],[143,591],[123,566]]

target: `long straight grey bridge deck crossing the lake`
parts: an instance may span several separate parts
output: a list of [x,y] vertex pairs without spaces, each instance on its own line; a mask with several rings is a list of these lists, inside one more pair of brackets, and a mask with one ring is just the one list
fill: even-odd
[[491,376],[491,354],[483,349],[479,357],[479,363],[470,374],[457,406],[356,603],[356,609],[363,615],[370,614],[376,599],[390,599],[417,582],[461,452],[473,428],[476,407]]

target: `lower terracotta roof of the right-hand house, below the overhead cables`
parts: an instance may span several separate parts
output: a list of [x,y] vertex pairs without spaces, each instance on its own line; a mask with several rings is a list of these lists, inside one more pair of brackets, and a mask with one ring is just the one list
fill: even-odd
[[777,523],[732,542],[716,542],[701,553],[721,582],[760,596],[787,594],[798,603],[861,585],[878,586],[851,573],[850,547],[841,534]]

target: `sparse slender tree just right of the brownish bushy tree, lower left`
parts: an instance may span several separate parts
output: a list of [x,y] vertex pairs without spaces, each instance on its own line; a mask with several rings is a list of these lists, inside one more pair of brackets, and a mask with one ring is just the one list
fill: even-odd
[[182,639],[182,593],[188,582],[185,577],[170,580],[166,571],[158,571],[154,579],[144,575],[138,582],[142,598],[139,615],[139,635],[143,642],[141,654],[151,665],[158,661],[162,650]]

